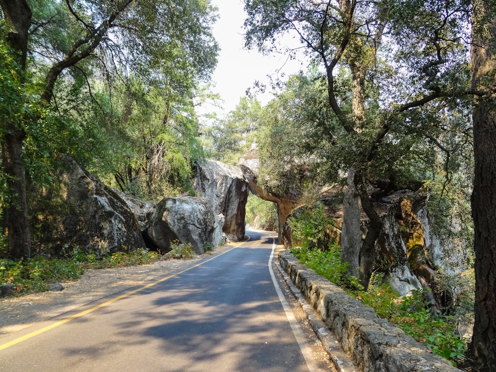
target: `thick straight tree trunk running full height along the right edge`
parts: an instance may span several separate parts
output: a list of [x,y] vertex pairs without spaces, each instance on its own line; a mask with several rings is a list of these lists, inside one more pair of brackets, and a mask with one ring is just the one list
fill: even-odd
[[[472,13],[472,87],[496,83],[496,19],[486,1]],[[496,96],[475,100],[475,175],[472,193],[475,250],[475,324],[468,359],[472,371],[496,371]]]

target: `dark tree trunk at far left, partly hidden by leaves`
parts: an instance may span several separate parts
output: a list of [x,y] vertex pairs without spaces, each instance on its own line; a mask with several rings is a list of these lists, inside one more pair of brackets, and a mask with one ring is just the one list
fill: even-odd
[[[0,0],[7,25],[7,42],[18,52],[21,71],[15,71],[23,79],[28,48],[28,29],[31,25],[31,9],[25,0]],[[31,255],[31,233],[28,222],[26,195],[26,169],[21,157],[26,133],[13,123],[2,123],[5,134],[1,138],[3,172],[7,176],[10,197],[4,206],[9,257],[22,258]]]

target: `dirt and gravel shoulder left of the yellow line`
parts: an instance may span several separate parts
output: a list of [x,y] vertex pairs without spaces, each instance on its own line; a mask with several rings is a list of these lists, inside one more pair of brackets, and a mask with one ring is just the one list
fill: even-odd
[[146,285],[154,278],[179,271],[231,247],[224,245],[192,259],[161,260],[151,265],[114,269],[89,269],[77,281],[62,283],[64,289],[61,292],[0,299],[0,339],[33,323],[49,320],[127,288]]

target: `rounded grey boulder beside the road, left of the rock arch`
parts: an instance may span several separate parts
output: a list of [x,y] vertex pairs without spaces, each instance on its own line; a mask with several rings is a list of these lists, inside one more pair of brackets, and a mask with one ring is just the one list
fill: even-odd
[[164,198],[151,210],[148,220],[149,227],[144,232],[148,247],[162,253],[179,241],[191,243],[195,253],[203,254],[206,243],[217,247],[222,237],[222,216],[214,212],[206,198]]

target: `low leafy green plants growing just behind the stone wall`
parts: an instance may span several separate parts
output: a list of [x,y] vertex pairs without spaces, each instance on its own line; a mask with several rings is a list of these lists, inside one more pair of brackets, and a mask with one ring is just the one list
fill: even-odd
[[377,315],[401,328],[406,334],[426,345],[432,353],[448,359],[454,366],[465,359],[470,341],[460,336],[458,325],[471,314],[460,311],[473,309],[473,298],[463,297],[449,309],[434,312],[425,291],[413,291],[400,297],[387,284],[385,273],[374,273],[368,291],[358,278],[348,274],[348,263],[341,263],[341,248],[327,240],[332,219],[325,216],[322,205],[307,208],[290,219],[293,238],[298,245],[292,253],[305,265],[322,275],[368,307]]

